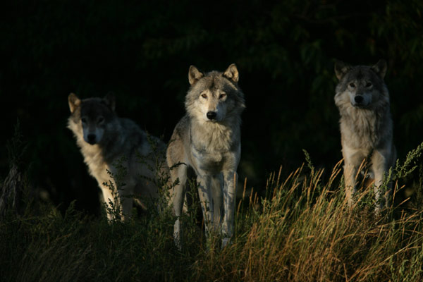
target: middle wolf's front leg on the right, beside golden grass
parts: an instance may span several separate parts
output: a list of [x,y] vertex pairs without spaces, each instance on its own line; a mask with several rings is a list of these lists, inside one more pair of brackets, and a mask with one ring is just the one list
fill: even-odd
[[223,224],[222,224],[222,247],[228,245],[233,235],[233,220],[235,217],[235,185],[238,181],[236,171],[223,172]]

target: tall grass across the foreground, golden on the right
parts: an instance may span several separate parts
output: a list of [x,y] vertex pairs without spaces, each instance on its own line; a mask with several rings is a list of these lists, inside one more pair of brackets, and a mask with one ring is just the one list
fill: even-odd
[[348,208],[341,162],[326,172],[308,158],[288,176],[272,173],[265,195],[245,184],[223,250],[213,247],[218,238],[206,242],[195,209],[183,218],[179,252],[169,211],[109,223],[32,203],[0,223],[1,281],[422,281],[422,211],[398,201],[421,153],[422,145],[397,163],[396,204],[377,216],[372,189]]

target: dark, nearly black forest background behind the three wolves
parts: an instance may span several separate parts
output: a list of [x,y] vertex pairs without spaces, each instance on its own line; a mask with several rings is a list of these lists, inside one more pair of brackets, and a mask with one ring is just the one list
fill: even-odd
[[[32,187],[61,209],[98,213],[97,184],[71,131],[67,97],[116,94],[119,116],[168,142],[184,114],[188,68],[236,63],[243,113],[240,178],[263,189],[309,152],[341,159],[335,59],[388,61],[398,157],[423,141],[422,1],[2,1],[0,180],[20,121]],[[47,192],[47,193],[46,193]]]

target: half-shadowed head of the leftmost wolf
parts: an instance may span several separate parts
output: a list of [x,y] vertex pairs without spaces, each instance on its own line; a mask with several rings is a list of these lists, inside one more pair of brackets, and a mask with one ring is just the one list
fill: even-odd
[[71,117],[68,128],[75,135],[82,135],[85,142],[94,145],[102,141],[107,125],[115,117],[115,98],[107,94],[104,98],[80,100],[75,94],[68,96]]

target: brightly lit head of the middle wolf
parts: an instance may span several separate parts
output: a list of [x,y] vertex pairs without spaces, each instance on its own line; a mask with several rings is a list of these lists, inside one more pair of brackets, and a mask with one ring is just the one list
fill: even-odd
[[192,118],[219,123],[228,116],[239,116],[245,108],[234,63],[223,73],[212,71],[204,74],[195,66],[190,66],[188,80],[191,87],[185,97],[185,109]]

